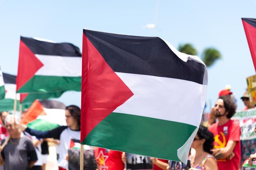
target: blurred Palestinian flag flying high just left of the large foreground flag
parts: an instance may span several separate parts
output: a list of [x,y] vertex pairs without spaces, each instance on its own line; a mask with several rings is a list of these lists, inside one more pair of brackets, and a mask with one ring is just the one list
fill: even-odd
[[19,93],[81,91],[81,53],[70,43],[20,37]]

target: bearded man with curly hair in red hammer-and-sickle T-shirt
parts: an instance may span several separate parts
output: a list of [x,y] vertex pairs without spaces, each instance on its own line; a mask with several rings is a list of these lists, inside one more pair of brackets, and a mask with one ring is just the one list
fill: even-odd
[[213,156],[216,157],[219,170],[238,170],[240,149],[240,126],[230,118],[236,113],[236,104],[230,96],[220,96],[214,106],[214,115],[218,122],[209,126],[214,135]]

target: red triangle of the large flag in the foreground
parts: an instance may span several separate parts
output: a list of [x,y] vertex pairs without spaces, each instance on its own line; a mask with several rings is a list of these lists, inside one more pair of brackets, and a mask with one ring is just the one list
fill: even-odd
[[81,142],[134,94],[83,34]]

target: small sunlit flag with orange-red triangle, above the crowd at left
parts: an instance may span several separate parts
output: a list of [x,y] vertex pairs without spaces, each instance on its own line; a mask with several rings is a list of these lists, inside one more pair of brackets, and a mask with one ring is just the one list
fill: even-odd
[[63,107],[45,108],[38,100],[35,100],[21,123],[38,131],[49,131],[59,126],[65,126],[65,109]]

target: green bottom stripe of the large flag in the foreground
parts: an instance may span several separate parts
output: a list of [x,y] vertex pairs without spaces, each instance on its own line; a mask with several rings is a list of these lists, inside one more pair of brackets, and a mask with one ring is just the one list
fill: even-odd
[[181,148],[195,129],[190,124],[113,112],[82,144],[180,161],[173,150]]

